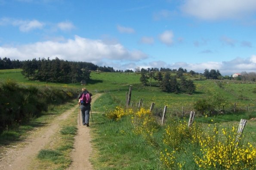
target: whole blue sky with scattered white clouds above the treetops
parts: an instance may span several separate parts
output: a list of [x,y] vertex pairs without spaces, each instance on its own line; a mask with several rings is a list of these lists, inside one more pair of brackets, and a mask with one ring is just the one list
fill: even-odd
[[256,72],[256,0],[0,0],[0,57]]

